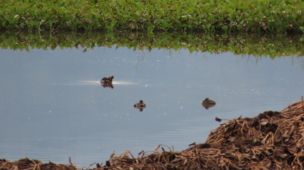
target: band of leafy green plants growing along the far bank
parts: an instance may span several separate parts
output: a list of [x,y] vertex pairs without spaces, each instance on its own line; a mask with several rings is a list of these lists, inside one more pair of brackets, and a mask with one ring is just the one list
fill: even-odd
[[300,0],[3,0],[2,30],[304,31]]

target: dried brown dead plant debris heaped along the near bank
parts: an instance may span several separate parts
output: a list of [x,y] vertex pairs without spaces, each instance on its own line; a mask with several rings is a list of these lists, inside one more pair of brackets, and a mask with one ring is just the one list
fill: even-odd
[[[130,151],[112,154],[105,165],[94,170],[166,170],[166,169],[234,169],[234,170],[290,170],[304,168],[304,101],[293,103],[281,112],[266,111],[253,118],[226,119],[211,131],[203,144],[190,144],[188,149],[176,152],[158,145],[153,151]],[[216,121],[221,119],[216,118]],[[166,150],[167,151],[166,151]],[[70,165],[43,164],[28,158],[11,162],[0,159],[0,169],[9,170],[78,170]],[[85,168],[85,167],[84,167]],[[84,169],[82,168],[82,169]]]

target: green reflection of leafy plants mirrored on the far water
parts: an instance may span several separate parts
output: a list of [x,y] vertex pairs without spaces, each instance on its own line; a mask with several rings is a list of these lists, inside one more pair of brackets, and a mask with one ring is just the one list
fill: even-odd
[[[100,33],[22,33],[4,32],[0,37],[0,47],[13,50],[26,50],[29,48],[42,48],[47,50],[60,48],[98,48],[112,47],[133,48],[133,51],[149,50],[152,48],[178,51],[188,49],[194,51],[218,54],[232,52],[238,55],[268,56],[270,58],[281,56],[303,56],[304,44],[300,36],[288,34],[176,34],[176,33],[130,33],[116,32]],[[85,51],[84,51],[85,52]],[[144,55],[143,55],[144,56]]]

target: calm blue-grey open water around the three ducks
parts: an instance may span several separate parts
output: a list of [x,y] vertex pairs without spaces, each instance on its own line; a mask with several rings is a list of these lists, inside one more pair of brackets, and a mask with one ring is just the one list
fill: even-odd
[[[0,158],[78,168],[116,151],[203,143],[215,117],[281,111],[304,94],[303,58],[133,51],[0,50]],[[113,89],[99,80],[114,75]],[[206,110],[201,102],[217,102]],[[133,107],[143,100],[140,112]],[[95,165],[93,166],[95,167]]]

